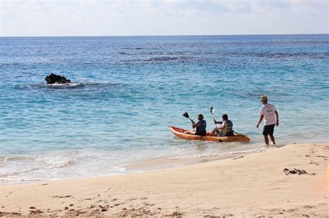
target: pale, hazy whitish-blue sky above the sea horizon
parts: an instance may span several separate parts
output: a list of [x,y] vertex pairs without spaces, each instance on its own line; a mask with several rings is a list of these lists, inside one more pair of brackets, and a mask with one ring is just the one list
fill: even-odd
[[0,0],[0,36],[328,34],[329,0]]

